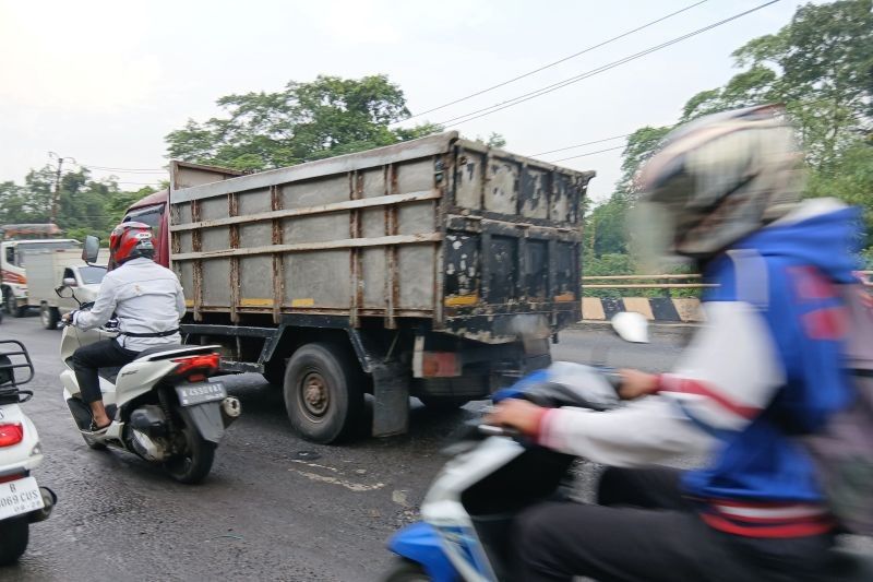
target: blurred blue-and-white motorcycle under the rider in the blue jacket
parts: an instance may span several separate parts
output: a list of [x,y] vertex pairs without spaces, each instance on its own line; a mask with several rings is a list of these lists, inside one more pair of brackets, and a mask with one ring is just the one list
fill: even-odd
[[[621,313],[613,329],[625,341],[645,343],[646,321]],[[493,401],[522,397],[540,406],[607,411],[619,406],[614,370],[557,363],[499,391]],[[431,484],[422,521],[388,542],[395,560],[385,582],[497,582],[511,579],[513,519],[543,500],[569,499],[574,456],[536,446],[516,431],[478,425],[446,450],[453,458]],[[873,557],[833,550],[828,580],[873,580]]]

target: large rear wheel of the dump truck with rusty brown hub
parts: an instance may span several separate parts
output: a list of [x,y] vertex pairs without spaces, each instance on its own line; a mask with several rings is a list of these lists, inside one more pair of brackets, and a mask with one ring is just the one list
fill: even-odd
[[339,344],[312,343],[285,370],[285,407],[304,439],[332,443],[351,437],[363,418],[363,372]]

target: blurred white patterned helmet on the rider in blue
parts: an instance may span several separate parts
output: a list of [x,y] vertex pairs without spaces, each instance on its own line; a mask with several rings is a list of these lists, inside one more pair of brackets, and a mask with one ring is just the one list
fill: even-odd
[[779,106],[715,114],[672,131],[639,175],[634,222],[656,231],[645,246],[711,258],[794,206],[802,159]]

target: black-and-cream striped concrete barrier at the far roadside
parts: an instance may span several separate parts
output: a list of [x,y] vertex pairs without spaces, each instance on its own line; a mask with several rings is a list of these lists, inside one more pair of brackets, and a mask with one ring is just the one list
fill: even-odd
[[621,311],[635,311],[650,321],[699,323],[699,299],[669,297],[583,297],[583,321],[609,321]]

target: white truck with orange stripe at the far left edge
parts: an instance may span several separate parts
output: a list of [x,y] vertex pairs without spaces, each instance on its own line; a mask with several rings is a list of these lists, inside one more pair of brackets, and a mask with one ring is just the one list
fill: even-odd
[[60,233],[53,224],[11,224],[0,227],[0,295],[3,311],[16,318],[27,312],[25,262],[29,251],[82,248],[72,238],[49,238]]

